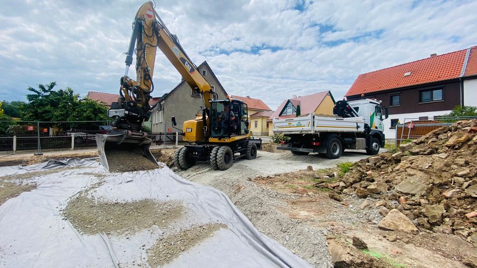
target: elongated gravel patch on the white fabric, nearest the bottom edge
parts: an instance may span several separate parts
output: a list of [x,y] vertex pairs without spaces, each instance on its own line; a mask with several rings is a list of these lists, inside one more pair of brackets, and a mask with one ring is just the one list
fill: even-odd
[[185,253],[207,238],[214,236],[213,233],[221,228],[227,228],[227,225],[219,223],[205,224],[160,238],[152,248],[146,251],[148,264],[151,267],[158,267],[170,263],[183,252]]

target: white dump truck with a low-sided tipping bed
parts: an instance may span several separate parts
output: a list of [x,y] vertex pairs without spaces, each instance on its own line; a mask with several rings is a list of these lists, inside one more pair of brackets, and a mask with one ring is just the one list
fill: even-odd
[[337,159],[345,149],[362,149],[368,155],[376,155],[384,147],[383,120],[388,118],[388,109],[379,101],[339,100],[333,114],[274,118],[273,133],[285,136],[277,149],[291,151],[294,155],[318,153]]

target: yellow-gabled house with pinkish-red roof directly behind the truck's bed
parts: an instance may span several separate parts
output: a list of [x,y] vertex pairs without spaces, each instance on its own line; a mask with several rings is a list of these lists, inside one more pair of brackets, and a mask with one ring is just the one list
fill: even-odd
[[[310,113],[332,115],[334,104],[334,97],[329,90],[306,96],[297,97],[294,95],[292,98],[284,100],[267,121],[272,122],[274,118],[295,117],[298,109],[300,109],[300,115],[302,116]],[[299,106],[300,108],[298,108]],[[269,130],[270,135],[273,135],[272,128]]]

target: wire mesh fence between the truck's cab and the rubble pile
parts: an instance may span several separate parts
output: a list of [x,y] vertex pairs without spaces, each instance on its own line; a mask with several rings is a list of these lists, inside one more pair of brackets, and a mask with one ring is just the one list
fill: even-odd
[[396,125],[396,145],[418,139],[440,127],[470,119],[477,119],[477,116],[404,118],[401,124]]

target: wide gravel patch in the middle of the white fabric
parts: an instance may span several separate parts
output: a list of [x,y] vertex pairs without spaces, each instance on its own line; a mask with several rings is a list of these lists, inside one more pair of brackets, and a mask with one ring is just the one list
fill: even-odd
[[182,216],[184,207],[178,202],[156,202],[145,199],[134,202],[95,201],[79,195],[68,202],[62,212],[81,233],[134,233],[153,225],[167,227]]

